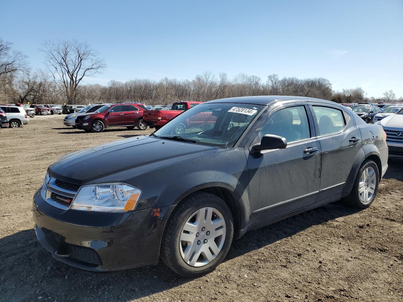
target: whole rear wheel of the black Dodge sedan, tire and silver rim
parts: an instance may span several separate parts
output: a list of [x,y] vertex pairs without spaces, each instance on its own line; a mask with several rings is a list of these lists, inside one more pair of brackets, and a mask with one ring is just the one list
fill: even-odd
[[355,178],[353,189],[343,201],[352,207],[359,209],[367,208],[376,197],[378,184],[378,166],[374,161],[368,160],[361,165],[357,178]]

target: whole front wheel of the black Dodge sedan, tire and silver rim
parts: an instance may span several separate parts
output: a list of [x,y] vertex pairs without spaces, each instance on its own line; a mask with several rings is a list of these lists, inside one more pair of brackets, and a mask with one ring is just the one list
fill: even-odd
[[234,235],[231,211],[219,197],[200,193],[177,206],[162,241],[162,260],[184,277],[213,271],[226,256]]

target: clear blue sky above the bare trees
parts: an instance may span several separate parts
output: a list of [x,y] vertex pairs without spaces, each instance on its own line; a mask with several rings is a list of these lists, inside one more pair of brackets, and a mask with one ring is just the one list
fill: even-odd
[[205,70],[266,81],[276,73],[403,97],[403,0],[0,0],[0,10],[0,37],[33,68],[44,67],[44,40],[98,50],[108,69],[86,83],[193,79]]

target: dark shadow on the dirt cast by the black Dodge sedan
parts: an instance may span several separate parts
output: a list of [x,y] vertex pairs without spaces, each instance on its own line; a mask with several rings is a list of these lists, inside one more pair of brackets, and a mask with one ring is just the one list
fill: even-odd
[[[249,232],[233,242],[225,261],[293,236],[312,225],[356,212],[356,209],[332,203]],[[39,296],[52,301],[130,301],[189,281],[162,263],[115,273],[83,271],[54,260],[37,242],[34,230],[0,239],[0,255],[0,292],[5,301],[31,301]]]

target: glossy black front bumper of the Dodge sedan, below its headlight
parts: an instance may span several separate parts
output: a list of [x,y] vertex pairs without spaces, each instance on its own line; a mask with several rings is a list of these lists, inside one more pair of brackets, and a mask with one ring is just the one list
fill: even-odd
[[89,271],[115,271],[158,263],[163,223],[153,209],[128,213],[62,210],[46,203],[38,190],[33,218],[39,242],[66,264]]

